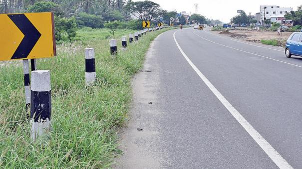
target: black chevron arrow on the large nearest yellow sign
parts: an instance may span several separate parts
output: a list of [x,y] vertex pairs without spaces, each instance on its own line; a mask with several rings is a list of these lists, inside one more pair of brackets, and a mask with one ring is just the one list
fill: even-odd
[[24,37],[10,59],[27,58],[41,33],[34,27],[24,14],[8,14],[10,20],[20,29]]

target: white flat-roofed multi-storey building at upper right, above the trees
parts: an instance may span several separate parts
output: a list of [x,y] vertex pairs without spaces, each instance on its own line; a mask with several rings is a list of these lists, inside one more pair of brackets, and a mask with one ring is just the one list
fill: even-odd
[[276,5],[261,5],[260,14],[261,22],[263,23],[266,19],[271,19],[272,16],[284,17],[285,14],[293,11],[293,7],[280,7]]

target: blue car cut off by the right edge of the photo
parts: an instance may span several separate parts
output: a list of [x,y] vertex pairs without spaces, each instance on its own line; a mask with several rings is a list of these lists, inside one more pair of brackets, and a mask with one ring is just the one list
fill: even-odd
[[286,42],[286,57],[302,56],[302,32],[294,32]]

